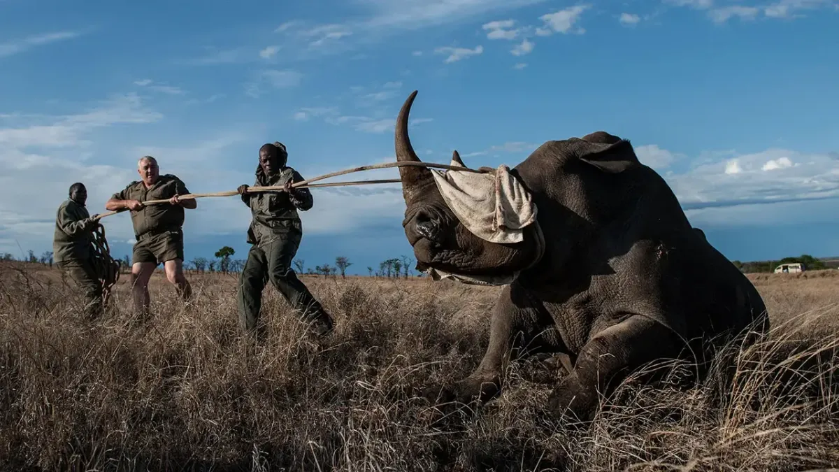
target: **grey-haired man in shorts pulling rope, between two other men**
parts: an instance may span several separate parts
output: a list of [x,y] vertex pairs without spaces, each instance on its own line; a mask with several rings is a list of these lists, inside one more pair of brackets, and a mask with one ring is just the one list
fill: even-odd
[[[158,162],[145,155],[138,161],[140,181],[133,181],[122,191],[112,195],[105,207],[108,210],[131,211],[134,227],[134,244],[131,267],[131,284],[134,310],[149,309],[149,279],[158,265],[163,264],[166,279],[178,294],[189,300],[192,296],[190,282],[184,276],[184,208],[197,206],[195,199],[180,200],[190,193],[184,182],[172,174],[160,175]],[[148,207],[143,202],[169,199],[169,203]]]

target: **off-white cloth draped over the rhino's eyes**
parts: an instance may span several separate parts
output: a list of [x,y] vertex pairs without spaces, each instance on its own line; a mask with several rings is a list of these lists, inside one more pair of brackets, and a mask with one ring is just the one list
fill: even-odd
[[[463,165],[451,160],[451,165]],[[524,228],[536,221],[536,205],[507,165],[494,172],[431,170],[443,200],[478,238],[509,244],[524,240]]]

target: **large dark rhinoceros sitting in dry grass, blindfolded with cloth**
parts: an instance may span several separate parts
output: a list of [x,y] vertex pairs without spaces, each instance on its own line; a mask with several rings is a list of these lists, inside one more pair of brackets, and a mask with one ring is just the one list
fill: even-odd
[[[416,94],[396,120],[398,161],[420,161],[408,136]],[[463,165],[457,151],[452,161]],[[769,329],[758,291],[691,227],[627,139],[597,131],[546,141],[509,173],[532,197],[536,222],[520,241],[494,243],[456,218],[431,170],[399,167],[416,269],[503,286],[481,363],[465,379],[426,389],[431,401],[487,401],[500,393],[513,352],[540,351],[565,368],[549,417],[588,422],[599,396],[643,364],[689,359],[707,338],[749,344]]]

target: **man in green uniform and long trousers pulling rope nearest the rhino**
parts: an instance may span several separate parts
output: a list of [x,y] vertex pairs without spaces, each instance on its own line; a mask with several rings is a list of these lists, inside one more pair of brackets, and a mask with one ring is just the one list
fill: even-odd
[[291,268],[303,237],[297,211],[309,210],[313,202],[309,189],[291,187],[292,182],[302,181],[303,177],[285,165],[288,157],[283,144],[264,144],[259,149],[254,184],[284,186],[284,191],[248,193],[247,185],[237,189],[253,216],[248,227],[248,244],[252,246],[239,276],[239,319],[246,330],[253,332],[257,328],[263,288],[271,281],[300,319],[312,323],[318,336],[325,336],[332,330],[332,318]]

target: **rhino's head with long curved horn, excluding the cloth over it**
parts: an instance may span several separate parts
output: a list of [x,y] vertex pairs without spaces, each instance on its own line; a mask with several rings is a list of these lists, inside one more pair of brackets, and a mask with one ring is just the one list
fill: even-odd
[[[408,137],[408,116],[417,92],[405,100],[396,119],[396,160],[420,162]],[[453,158],[463,165],[457,151]],[[416,269],[435,280],[451,277],[466,283],[499,285],[509,283],[522,270],[535,265],[544,252],[538,224],[524,228],[524,240],[498,244],[471,233],[448,207],[431,171],[424,167],[400,166],[405,218],[405,236],[414,249]]]

